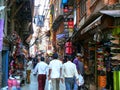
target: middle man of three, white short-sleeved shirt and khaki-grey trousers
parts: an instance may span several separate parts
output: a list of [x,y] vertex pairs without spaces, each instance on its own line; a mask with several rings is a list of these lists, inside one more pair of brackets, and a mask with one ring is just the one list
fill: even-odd
[[59,90],[60,77],[62,72],[62,62],[58,59],[58,54],[53,54],[53,60],[49,64],[48,80],[52,81],[53,90]]

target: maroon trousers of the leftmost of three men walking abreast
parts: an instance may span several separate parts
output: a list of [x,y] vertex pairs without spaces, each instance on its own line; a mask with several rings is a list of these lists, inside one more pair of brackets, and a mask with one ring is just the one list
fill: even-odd
[[44,90],[45,88],[46,75],[38,75],[38,90]]

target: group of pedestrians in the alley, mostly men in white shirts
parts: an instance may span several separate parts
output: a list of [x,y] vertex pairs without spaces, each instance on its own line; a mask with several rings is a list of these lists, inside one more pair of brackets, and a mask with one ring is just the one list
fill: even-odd
[[[77,54],[73,60],[71,55],[66,56],[66,62],[59,59],[59,55],[54,52],[52,60],[47,64],[43,56],[37,56],[37,65],[33,69],[33,74],[37,75],[38,90],[45,90],[46,79],[51,81],[52,90],[60,89],[60,82],[65,83],[65,90],[80,90],[78,87],[79,74],[84,74],[84,66],[80,61],[82,55]],[[31,65],[31,61],[27,65]],[[27,73],[31,72],[27,69]],[[28,74],[29,75],[29,74]],[[28,76],[30,82],[30,77]]]

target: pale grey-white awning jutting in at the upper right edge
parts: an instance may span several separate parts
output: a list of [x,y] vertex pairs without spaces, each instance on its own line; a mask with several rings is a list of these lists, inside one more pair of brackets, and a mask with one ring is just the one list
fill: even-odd
[[112,17],[120,17],[120,10],[101,10],[100,13],[106,14]]

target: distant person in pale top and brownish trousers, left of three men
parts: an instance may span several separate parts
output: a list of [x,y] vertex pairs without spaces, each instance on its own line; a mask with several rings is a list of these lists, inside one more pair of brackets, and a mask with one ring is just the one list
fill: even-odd
[[27,68],[26,68],[26,82],[28,84],[30,83],[30,74],[31,74],[32,68],[33,68],[32,58],[29,57],[28,58],[28,63],[27,63]]

